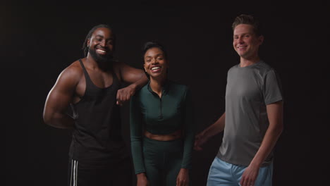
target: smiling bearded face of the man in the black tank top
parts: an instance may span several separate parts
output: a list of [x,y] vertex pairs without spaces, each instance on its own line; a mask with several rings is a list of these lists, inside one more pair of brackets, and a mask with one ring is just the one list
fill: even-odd
[[114,51],[114,36],[106,27],[99,27],[87,40],[88,52],[95,61],[107,61]]

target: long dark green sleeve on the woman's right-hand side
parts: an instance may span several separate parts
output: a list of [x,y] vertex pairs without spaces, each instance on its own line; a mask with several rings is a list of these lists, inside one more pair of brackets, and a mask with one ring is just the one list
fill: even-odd
[[185,93],[185,111],[183,116],[183,130],[185,134],[183,147],[183,161],[181,168],[192,167],[193,144],[195,142],[195,122],[193,120],[193,100],[190,89]]

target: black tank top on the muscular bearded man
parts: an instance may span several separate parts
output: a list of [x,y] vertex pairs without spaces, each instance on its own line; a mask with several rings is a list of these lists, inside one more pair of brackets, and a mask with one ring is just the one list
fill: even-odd
[[121,136],[121,113],[116,104],[120,82],[113,73],[110,87],[99,88],[90,79],[82,61],[86,89],[77,104],[71,104],[75,129],[69,156],[78,161],[102,161],[123,156],[125,143]]

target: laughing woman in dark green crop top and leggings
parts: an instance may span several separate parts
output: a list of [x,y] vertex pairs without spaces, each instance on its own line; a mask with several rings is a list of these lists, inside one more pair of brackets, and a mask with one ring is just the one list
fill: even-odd
[[138,185],[188,185],[195,125],[187,86],[168,80],[161,44],[147,42],[149,83],[130,102],[130,139]]

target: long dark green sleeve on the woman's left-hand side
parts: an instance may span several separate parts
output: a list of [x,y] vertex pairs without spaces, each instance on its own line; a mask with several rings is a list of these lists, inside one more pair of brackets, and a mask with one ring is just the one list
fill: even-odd
[[130,147],[135,174],[144,173],[145,163],[143,162],[142,154],[142,113],[137,94],[130,99]]

